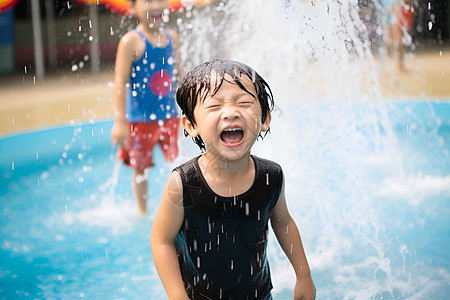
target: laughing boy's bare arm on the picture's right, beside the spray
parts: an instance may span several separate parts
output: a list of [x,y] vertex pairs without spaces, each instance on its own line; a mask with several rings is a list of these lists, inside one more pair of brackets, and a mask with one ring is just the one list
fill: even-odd
[[280,199],[272,212],[273,214],[270,222],[273,231],[275,232],[281,248],[283,248],[283,251],[286,253],[289,261],[294,267],[295,275],[297,276],[294,299],[315,299],[316,288],[311,278],[300,233],[286,206],[284,179]]

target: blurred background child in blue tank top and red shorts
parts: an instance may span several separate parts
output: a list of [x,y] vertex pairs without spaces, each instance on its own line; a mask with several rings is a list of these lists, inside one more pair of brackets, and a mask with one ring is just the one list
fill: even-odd
[[[133,192],[139,211],[147,213],[147,178],[158,143],[168,161],[178,155],[179,118],[175,103],[180,74],[178,36],[163,26],[168,0],[128,0],[138,26],[119,42],[114,73],[113,144],[118,158],[134,169]],[[177,67],[178,66],[178,67]],[[180,74],[181,75],[181,74]]]

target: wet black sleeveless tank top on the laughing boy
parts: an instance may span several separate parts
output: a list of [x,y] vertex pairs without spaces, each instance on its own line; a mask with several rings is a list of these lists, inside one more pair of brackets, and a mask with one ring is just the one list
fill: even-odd
[[190,299],[264,299],[272,289],[266,257],[268,221],[283,182],[281,167],[252,156],[253,185],[222,197],[206,183],[198,157],[177,167],[184,222],[176,238]]

